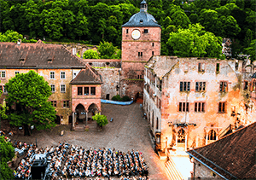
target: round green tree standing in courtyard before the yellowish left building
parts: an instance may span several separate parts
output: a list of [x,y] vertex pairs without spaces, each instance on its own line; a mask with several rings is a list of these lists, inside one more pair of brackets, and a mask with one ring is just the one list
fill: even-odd
[[10,124],[24,126],[24,135],[30,135],[30,126],[37,130],[50,129],[55,126],[55,107],[48,102],[51,89],[47,81],[38,73],[17,74],[6,84],[8,90],[7,104]]

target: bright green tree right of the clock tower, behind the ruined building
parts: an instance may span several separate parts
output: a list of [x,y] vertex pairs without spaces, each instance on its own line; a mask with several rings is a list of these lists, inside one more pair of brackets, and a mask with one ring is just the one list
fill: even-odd
[[212,32],[202,31],[200,24],[189,25],[189,29],[178,29],[172,32],[167,42],[172,49],[172,55],[180,57],[217,57],[221,55],[221,38]]

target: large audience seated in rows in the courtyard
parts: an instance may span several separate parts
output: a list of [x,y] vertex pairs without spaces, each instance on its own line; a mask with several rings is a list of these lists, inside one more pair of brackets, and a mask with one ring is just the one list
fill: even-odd
[[[31,166],[34,162],[34,154],[47,154],[49,165],[46,177],[54,180],[67,178],[99,178],[120,177],[123,180],[148,179],[148,166],[139,151],[123,153],[113,148],[84,149],[71,146],[67,142],[59,142],[56,148],[28,149],[26,156],[21,160],[15,171],[15,177],[26,178],[30,176]],[[135,177],[137,176],[137,177]],[[131,178],[132,177],[132,178]]]

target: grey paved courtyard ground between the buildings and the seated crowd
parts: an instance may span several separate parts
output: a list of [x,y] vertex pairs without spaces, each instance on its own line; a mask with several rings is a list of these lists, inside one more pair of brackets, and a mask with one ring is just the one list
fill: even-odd
[[[151,146],[148,135],[149,124],[143,119],[143,111],[139,103],[129,106],[119,106],[102,103],[102,114],[108,118],[108,125],[102,131],[89,130],[85,132],[70,131],[69,125],[56,126],[51,131],[35,131],[32,136],[17,134],[13,141],[36,142],[38,148],[57,145],[58,142],[67,141],[70,144],[83,148],[115,148],[127,152],[131,149],[143,152],[152,180],[168,179],[164,162],[160,161]],[[113,122],[109,120],[113,118]],[[64,136],[60,136],[65,130]]]

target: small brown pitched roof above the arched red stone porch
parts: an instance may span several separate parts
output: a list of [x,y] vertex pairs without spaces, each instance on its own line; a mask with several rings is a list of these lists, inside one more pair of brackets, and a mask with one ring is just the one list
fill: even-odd
[[79,72],[76,78],[73,78],[70,84],[102,84],[102,78],[95,69],[86,64],[85,68]]

